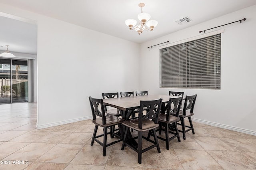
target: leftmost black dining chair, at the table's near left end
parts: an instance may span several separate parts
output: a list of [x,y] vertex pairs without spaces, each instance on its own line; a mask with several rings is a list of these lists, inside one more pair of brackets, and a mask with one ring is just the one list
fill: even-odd
[[[95,124],[91,146],[93,145],[94,141],[98,142],[101,146],[103,146],[103,156],[106,156],[106,147],[122,141],[121,138],[107,144],[107,135],[114,134],[113,127],[115,125],[118,125],[118,127],[120,128],[120,124],[124,121],[124,119],[121,119],[120,117],[116,117],[114,115],[106,115],[102,99],[95,99],[89,97],[89,101],[92,109],[92,123]],[[103,127],[104,132],[103,134],[96,136],[98,127]],[[110,127],[110,132],[108,132],[108,127]],[[101,136],[103,136],[103,142],[98,140],[98,138]]]

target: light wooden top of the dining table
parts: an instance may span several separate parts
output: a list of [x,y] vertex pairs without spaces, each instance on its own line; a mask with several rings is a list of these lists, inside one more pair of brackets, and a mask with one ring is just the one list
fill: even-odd
[[145,95],[145,96],[134,96],[134,97],[118,97],[118,98],[110,98],[103,99],[104,105],[115,107],[122,111],[128,111],[131,109],[140,108],[140,101],[148,101],[148,100],[156,100],[163,99],[162,103],[167,103],[170,99],[177,98],[179,96],[169,96],[169,95]]

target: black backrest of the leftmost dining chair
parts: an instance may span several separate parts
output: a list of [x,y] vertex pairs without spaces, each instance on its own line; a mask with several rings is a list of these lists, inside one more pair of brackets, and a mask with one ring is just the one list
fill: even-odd
[[90,106],[92,110],[92,119],[96,120],[96,116],[102,117],[102,124],[105,125],[106,115],[103,107],[103,100],[89,97],[89,101],[90,101]]

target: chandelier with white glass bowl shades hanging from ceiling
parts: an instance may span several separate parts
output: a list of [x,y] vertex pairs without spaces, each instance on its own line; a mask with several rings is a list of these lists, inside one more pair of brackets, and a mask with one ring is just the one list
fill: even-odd
[[157,26],[158,22],[156,20],[150,20],[151,16],[148,13],[142,12],[142,7],[144,7],[144,3],[140,3],[139,7],[141,8],[141,13],[138,14],[138,19],[140,23],[138,25],[137,21],[134,19],[128,19],[124,23],[130,28],[130,30],[135,30],[139,34],[141,34],[145,29],[153,31],[153,29]]

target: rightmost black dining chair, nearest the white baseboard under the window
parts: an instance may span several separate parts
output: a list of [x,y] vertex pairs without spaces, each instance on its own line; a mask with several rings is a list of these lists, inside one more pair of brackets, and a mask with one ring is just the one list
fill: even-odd
[[[186,132],[192,130],[192,133],[195,134],[191,116],[194,115],[194,106],[196,103],[196,96],[197,95],[186,96],[183,110],[180,110],[180,113],[179,113],[180,123],[177,123],[177,125],[182,126],[182,130],[179,130],[179,131],[182,132],[184,140],[186,139]],[[186,117],[188,118],[190,126],[185,125]],[[187,127],[186,130],[185,130],[185,127]]]

